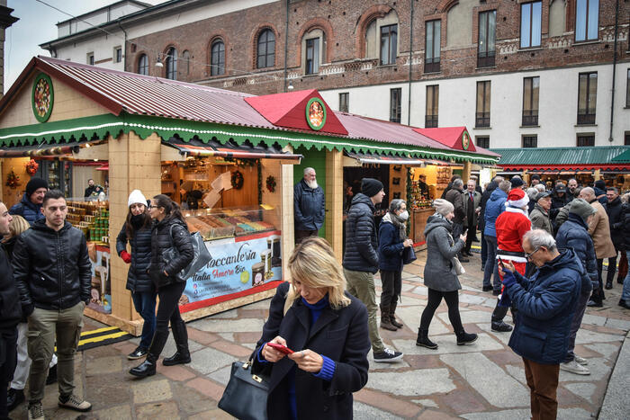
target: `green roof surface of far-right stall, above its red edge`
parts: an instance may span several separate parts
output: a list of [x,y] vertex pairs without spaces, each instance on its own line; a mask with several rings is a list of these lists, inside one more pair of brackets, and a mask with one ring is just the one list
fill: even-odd
[[627,150],[630,146],[491,148],[501,156],[499,166],[606,165]]

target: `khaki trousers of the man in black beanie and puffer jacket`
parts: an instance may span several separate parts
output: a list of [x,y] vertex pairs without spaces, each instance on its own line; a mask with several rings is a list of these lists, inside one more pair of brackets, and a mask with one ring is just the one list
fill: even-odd
[[370,331],[370,342],[375,353],[383,353],[385,345],[378,332],[378,307],[376,306],[376,290],[374,289],[374,274],[367,272],[353,272],[344,268],[347,291],[356,299],[361,300],[367,308],[367,328]]

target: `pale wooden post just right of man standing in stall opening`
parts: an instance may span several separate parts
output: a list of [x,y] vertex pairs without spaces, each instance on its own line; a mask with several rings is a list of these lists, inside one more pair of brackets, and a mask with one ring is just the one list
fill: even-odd
[[335,149],[326,152],[326,239],[338,262],[343,259],[344,154]]

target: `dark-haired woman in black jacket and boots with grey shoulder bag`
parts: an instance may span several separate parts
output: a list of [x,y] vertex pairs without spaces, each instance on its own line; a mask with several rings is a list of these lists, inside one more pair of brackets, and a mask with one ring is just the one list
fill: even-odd
[[[139,378],[156,374],[157,359],[168,338],[168,321],[173,329],[177,351],[173,356],[164,359],[164,365],[190,362],[188,332],[178,304],[186,286],[186,279],[182,278],[180,272],[193,261],[193,242],[179,206],[166,195],[158,194],[153,197],[148,212],[153,219],[148,275],[157,288],[159,304],[156,332],[148,347],[147,359],[129,371]],[[171,247],[175,247],[177,256],[167,260],[165,252]]]

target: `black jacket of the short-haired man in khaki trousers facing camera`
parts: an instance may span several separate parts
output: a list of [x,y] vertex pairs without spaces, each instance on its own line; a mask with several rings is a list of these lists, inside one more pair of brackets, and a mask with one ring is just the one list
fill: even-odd
[[18,237],[14,277],[26,315],[32,308],[58,310],[90,301],[92,264],[85,235],[68,222],[55,231],[37,220]]

